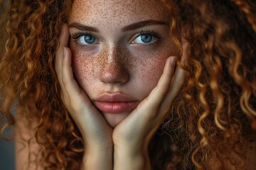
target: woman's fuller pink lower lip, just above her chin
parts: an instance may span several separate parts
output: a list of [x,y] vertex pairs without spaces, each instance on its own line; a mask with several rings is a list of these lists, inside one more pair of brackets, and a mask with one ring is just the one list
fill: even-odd
[[126,111],[131,111],[136,108],[137,101],[131,102],[108,102],[108,101],[95,101],[95,105],[100,111],[105,113],[124,113]]

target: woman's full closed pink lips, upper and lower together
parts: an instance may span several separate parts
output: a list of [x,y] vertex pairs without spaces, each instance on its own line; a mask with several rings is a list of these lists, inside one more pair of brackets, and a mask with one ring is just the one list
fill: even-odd
[[95,100],[95,106],[105,113],[124,113],[136,108],[138,101],[125,94],[102,94]]

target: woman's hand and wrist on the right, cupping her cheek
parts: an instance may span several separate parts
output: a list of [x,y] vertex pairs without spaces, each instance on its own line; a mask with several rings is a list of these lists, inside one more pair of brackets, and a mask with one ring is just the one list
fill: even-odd
[[185,77],[183,69],[175,69],[175,64],[176,57],[166,60],[157,86],[114,128],[115,169],[150,169],[147,153],[149,141],[169,113]]

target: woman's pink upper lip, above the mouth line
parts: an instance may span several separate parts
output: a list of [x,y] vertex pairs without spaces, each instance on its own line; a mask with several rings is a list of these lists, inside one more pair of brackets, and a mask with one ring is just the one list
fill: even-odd
[[134,98],[127,96],[126,94],[114,93],[114,94],[102,94],[98,96],[95,101],[107,101],[107,102],[132,102],[137,101]]

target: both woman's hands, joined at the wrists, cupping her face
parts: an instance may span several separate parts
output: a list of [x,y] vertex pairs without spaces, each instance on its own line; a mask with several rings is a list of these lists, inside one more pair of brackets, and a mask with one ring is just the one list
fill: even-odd
[[[114,169],[150,169],[149,141],[183,84],[184,72],[180,67],[175,69],[176,57],[168,57],[163,74],[149,96],[113,129],[73,77],[68,38],[68,26],[64,24],[55,69],[63,103],[85,142],[81,168],[112,169],[114,166]],[[183,48],[186,50],[186,44]],[[186,56],[186,53],[183,52],[183,55]]]

